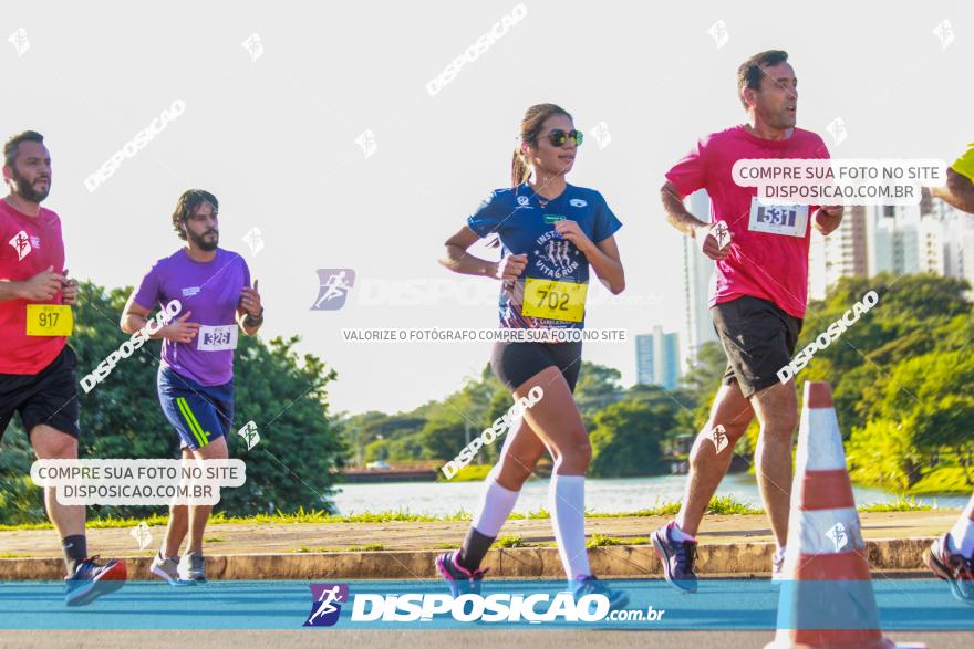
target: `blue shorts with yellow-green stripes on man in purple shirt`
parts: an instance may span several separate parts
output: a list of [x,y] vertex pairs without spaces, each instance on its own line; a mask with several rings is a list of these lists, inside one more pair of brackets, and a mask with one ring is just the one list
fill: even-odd
[[179,433],[182,448],[196,450],[218,437],[229,441],[234,426],[234,380],[204,386],[159,366],[159,405]]

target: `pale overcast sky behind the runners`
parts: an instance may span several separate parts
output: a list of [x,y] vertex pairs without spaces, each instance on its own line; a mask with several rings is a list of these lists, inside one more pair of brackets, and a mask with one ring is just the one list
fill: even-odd
[[[169,214],[182,191],[214,191],[221,245],[260,280],[262,335],[300,334],[301,352],[339,371],[332,402],[351,412],[442,398],[487,362],[489,343],[355,345],[341,331],[496,325],[496,282],[442,283],[452,278],[436,259],[508,182],[531,104],[573,114],[589,135],[569,181],[601,191],[624,223],[628,289],[593,289],[587,326],[630,341],[587,344],[586,358],[618,367],[625,385],[635,334],[660,324],[685,344],[682,249],[657,189],[696,137],[744,119],[735,73],[748,55],[788,51],[799,126],[832,146],[826,125],[845,124],[836,157],[952,160],[974,140],[968,0],[517,4],[14,3],[0,14],[0,132],[44,134],[45,205],[63,220],[68,265],[107,286],[136,284],[180,244]],[[512,11],[521,20],[431,96],[427,83]],[[90,192],[85,178],[177,101],[182,115]],[[604,148],[591,135],[600,122]],[[367,157],[356,144],[366,130]],[[265,245],[256,255],[242,241],[251,228]],[[318,269],[352,269],[370,293],[311,311]],[[438,297],[390,300],[394,280],[431,282]]]

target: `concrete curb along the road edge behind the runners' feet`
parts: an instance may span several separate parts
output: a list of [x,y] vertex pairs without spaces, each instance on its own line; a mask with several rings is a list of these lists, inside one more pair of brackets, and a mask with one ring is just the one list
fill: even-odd
[[[923,551],[930,538],[883,538],[866,544],[873,571],[922,568]],[[701,577],[768,576],[771,543],[701,545],[697,574]],[[434,558],[443,551],[330,552],[301,554],[231,554],[207,557],[210,579],[438,579]],[[662,577],[660,561],[651,545],[615,545],[589,551],[589,561],[600,577]],[[151,557],[125,557],[128,578],[156,579],[149,572]],[[500,548],[484,562],[490,577],[562,578],[561,559],[555,547]],[[0,559],[0,580],[56,580],[64,577],[60,558]]]

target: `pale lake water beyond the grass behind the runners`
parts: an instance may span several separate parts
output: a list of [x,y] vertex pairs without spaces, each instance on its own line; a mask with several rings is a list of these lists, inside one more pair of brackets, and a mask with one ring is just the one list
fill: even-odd
[[[586,509],[597,512],[633,512],[683,499],[686,475],[654,478],[589,479],[586,481]],[[334,496],[342,514],[408,510],[414,514],[444,515],[460,510],[472,512],[479,502],[481,482],[386,482],[381,484],[344,484]],[[880,489],[853,488],[860,506],[887,503],[895,495]],[[734,473],[724,478],[717,495],[761,507],[757,482],[753,475]],[[527,513],[546,506],[548,480],[527,482],[518,499],[516,512]],[[963,507],[967,496],[918,496],[918,503],[939,507]]]

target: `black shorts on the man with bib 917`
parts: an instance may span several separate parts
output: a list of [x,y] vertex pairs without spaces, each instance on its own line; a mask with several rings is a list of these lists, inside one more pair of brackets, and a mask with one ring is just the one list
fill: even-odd
[[38,374],[0,374],[0,437],[13,414],[19,412],[28,435],[34,426],[45,423],[77,439],[76,364],[74,350],[64,345],[54,360]]

